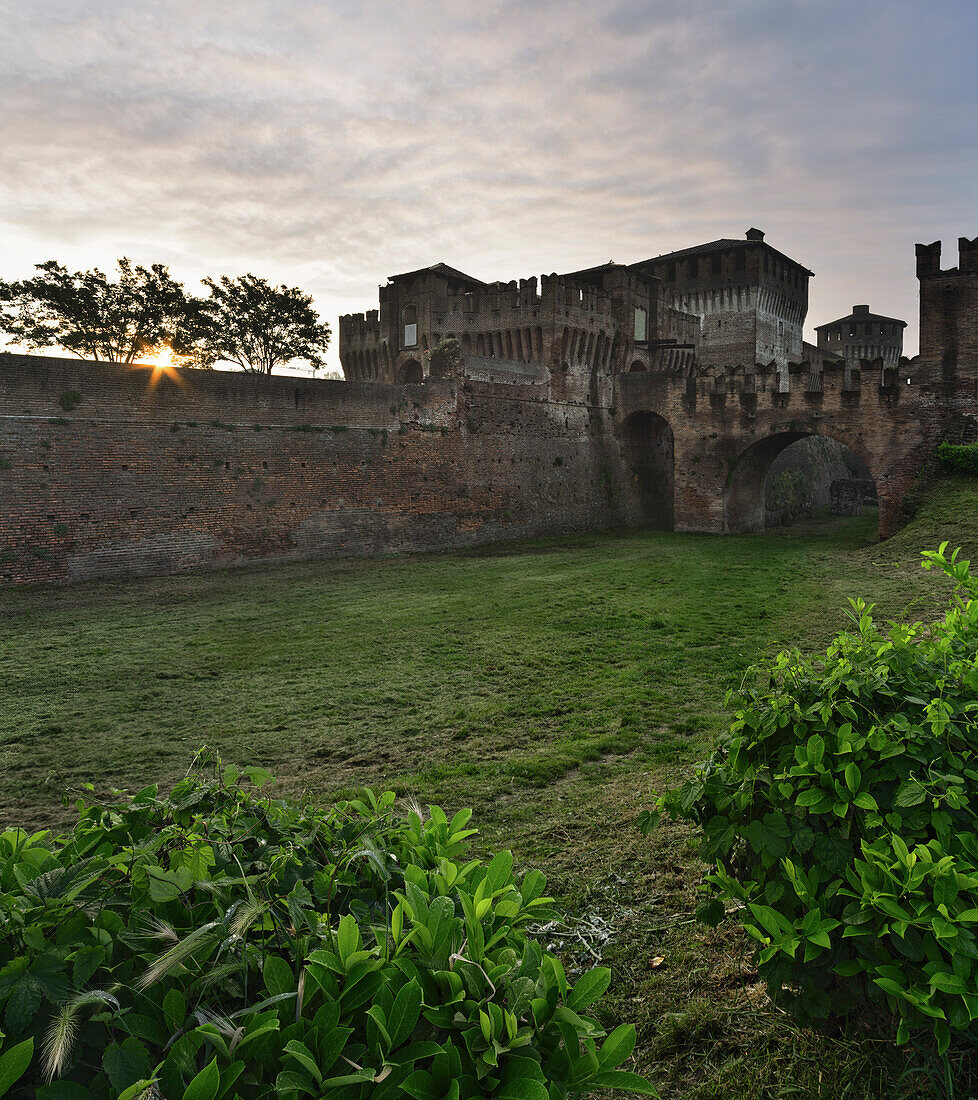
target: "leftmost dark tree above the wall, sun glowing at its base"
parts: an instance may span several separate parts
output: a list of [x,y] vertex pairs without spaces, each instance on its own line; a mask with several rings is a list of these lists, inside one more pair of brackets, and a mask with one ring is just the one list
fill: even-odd
[[187,296],[163,264],[123,256],[119,278],[98,268],[69,272],[54,260],[33,278],[0,280],[0,330],[28,348],[64,348],[80,359],[132,363],[171,343],[185,322]]

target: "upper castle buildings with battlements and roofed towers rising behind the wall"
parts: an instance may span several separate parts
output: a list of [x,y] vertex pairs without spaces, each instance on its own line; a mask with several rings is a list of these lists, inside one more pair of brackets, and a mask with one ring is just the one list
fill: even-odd
[[[351,381],[420,382],[438,343],[460,341],[473,377],[541,380],[694,364],[788,364],[832,358],[802,340],[812,272],[759,229],[635,264],[482,283],[447,264],[392,275],[380,310],[340,318]],[[903,322],[897,322],[903,323]],[[876,356],[864,356],[876,358]]]

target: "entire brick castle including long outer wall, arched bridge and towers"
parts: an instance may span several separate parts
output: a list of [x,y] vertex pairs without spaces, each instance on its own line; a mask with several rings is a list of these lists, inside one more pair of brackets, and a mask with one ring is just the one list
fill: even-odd
[[[920,354],[895,363],[804,344],[811,273],[757,230],[539,289],[397,276],[341,319],[345,382],[0,355],[0,583],[755,531],[813,436],[865,463],[887,537],[934,447],[978,438],[978,238],[958,250],[917,245]],[[460,371],[432,376],[450,336]]]

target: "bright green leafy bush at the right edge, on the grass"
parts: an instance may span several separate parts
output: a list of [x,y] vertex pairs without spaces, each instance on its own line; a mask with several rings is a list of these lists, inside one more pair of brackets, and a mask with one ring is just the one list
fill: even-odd
[[741,689],[713,756],[658,801],[702,826],[697,914],[743,906],[776,1002],[864,1012],[900,1043],[923,1025],[942,1052],[978,1034],[978,580],[946,549],[923,556],[955,584],[942,622],[883,629],[851,601],[855,630]]

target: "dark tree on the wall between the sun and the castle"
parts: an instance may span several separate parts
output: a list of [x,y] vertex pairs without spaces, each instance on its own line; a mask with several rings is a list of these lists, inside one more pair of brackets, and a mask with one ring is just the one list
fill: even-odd
[[255,374],[297,359],[322,366],[331,333],[309,295],[251,274],[202,282],[210,296],[194,304],[186,338],[176,348],[185,359],[205,366],[237,363]]

